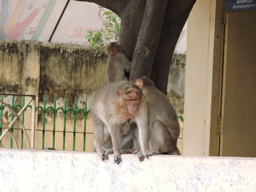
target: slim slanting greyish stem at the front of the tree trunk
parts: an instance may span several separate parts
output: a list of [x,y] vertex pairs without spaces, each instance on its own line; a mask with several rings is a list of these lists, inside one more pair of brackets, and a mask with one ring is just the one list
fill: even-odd
[[[162,31],[167,0],[147,0],[140,34],[132,56],[132,70],[129,80],[141,76],[150,77],[157,45]],[[157,19],[156,19],[157,18]]]

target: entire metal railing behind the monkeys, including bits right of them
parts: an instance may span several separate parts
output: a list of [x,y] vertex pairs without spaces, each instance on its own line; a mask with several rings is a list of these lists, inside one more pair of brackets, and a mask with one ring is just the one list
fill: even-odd
[[[4,96],[5,100],[8,101],[4,101]],[[53,99],[52,106],[47,106],[45,97],[42,101],[42,105],[36,106],[35,99],[36,96],[34,95],[0,93],[0,147],[3,147],[1,146],[1,142],[5,138],[8,142],[10,141],[10,148],[56,149],[56,134],[61,134],[61,136],[59,135],[58,137],[58,140],[62,140],[61,147],[59,146],[57,149],[67,150],[67,134],[71,134],[72,139],[70,139],[70,137],[68,139],[69,150],[76,150],[76,138],[78,135],[82,135],[83,144],[81,145],[83,146],[80,147],[80,150],[86,151],[86,137],[89,134],[93,134],[92,131],[86,130],[86,121],[89,115],[86,100],[84,101],[83,108],[78,108],[76,99],[73,107],[67,107],[67,99],[64,99],[63,107],[57,107],[56,99]],[[25,122],[25,119],[26,121],[29,119],[28,115],[26,115],[28,109],[30,109],[31,122]],[[174,110],[177,112],[177,107],[174,107]],[[9,115],[4,115],[4,113]],[[61,117],[58,118],[58,115],[61,115]],[[4,116],[7,117],[4,119]],[[57,119],[59,120],[58,128],[56,126]],[[181,120],[181,122],[184,121],[182,115],[178,115],[178,119]],[[69,128],[67,128],[67,120],[69,120]],[[80,122],[79,127],[77,125],[78,121]],[[15,126],[15,122],[18,122],[18,126]],[[60,126],[60,122],[62,126]],[[83,126],[81,125],[82,122]],[[24,125],[25,123],[26,126]],[[27,126],[28,124],[29,126]],[[70,128],[70,126],[72,126],[72,128]],[[14,134],[14,131],[16,131],[16,134]],[[31,131],[31,139],[29,139],[28,136],[29,131]],[[9,137],[7,133],[10,134]],[[20,140],[19,146],[17,137]],[[35,137],[37,141],[35,141]],[[179,137],[179,139],[182,139],[182,137]],[[24,146],[25,140],[29,147]],[[80,140],[79,144],[81,142]],[[37,142],[37,147],[35,147],[35,142]],[[47,146],[45,142],[48,142]],[[5,144],[6,143],[5,141]],[[13,143],[15,143],[15,146]],[[60,145],[59,143],[58,145]]]

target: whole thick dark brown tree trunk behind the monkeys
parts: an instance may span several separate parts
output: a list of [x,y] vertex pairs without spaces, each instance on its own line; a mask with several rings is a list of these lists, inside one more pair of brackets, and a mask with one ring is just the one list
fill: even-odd
[[129,80],[151,77],[162,93],[173,51],[195,0],[76,0],[89,1],[116,12],[121,18],[119,44],[132,61]]

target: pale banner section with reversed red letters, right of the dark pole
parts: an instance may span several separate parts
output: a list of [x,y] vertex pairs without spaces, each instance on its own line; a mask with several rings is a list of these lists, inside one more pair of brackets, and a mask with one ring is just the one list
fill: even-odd
[[70,1],[51,42],[89,45],[86,39],[88,31],[99,31],[102,28],[102,14],[105,11],[107,9],[97,4]]

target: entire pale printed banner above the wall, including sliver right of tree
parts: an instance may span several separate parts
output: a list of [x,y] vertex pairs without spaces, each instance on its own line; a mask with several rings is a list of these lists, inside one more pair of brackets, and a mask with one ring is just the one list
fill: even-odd
[[[64,9],[66,5],[67,9]],[[102,15],[105,11],[108,9],[85,1],[0,0],[0,39],[50,40],[87,46],[88,31],[99,31],[102,28]],[[64,14],[61,17],[62,12]],[[175,53],[186,53],[186,50],[187,25],[178,39]]]

